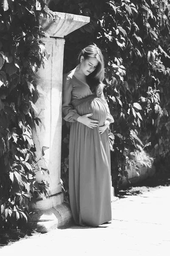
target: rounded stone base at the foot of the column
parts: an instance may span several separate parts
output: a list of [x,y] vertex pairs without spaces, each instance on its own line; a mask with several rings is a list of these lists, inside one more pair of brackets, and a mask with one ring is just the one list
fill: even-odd
[[57,205],[50,209],[36,209],[30,214],[28,219],[28,229],[37,232],[47,233],[56,228],[66,228],[71,226],[73,222],[71,209],[68,203]]

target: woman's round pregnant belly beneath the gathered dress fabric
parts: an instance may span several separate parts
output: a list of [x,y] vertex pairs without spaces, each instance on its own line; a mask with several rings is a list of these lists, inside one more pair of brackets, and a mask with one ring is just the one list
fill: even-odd
[[76,110],[81,116],[93,113],[93,115],[89,118],[98,120],[99,126],[104,125],[104,122],[107,118],[107,110],[105,107],[104,100],[100,98],[89,99],[86,102],[79,104],[76,107]]

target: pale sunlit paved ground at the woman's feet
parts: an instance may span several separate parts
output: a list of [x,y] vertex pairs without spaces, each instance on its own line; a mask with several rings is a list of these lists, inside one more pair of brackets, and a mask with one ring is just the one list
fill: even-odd
[[0,249],[0,255],[169,256],[170,186],[112,203],[113,220],[96,228],[77,226],[37,234]]

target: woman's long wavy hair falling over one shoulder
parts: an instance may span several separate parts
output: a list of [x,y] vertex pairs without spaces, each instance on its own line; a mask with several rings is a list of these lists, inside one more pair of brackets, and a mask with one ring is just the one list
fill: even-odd
[[91,44],[82,49],[79,53],[79,63],[82,56],[84,57],[84,59],[94,57],[99,61],[96,69],[87,76],[87,82],[91,88],[91,91],[95,91],[97,93],[99,87],[104,87],[104,84],[102,83],[104,79],[104,58],[102,52],[96,45]]

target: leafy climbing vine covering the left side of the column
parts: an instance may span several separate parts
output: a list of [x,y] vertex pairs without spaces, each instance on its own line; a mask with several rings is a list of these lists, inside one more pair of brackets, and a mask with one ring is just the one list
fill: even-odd
[[30,199],[48,194],[48,183],[35,179],[37,171],[48,170],[37,165],[32,140],[32,129],[41,122],[35,116],[34,78],[47,58],[38,22],[45,3],[0,2],[0,226],[17,227],[27,220]]

